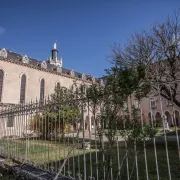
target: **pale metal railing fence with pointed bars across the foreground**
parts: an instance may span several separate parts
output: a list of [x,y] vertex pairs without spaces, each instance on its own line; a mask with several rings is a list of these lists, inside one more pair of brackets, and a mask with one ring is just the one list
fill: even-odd
[[0,155],[56,178],[180,179],[180,109],[160,95],[131,103],[138,123],[111,128],[99,118],[103,105],[95,111],[88,99],[2,105]]

